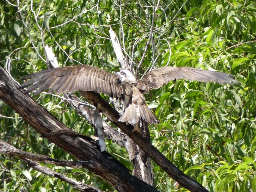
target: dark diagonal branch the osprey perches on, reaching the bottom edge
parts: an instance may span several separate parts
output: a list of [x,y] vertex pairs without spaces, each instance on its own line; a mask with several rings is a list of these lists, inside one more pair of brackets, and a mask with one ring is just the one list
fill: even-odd
[[119,114],[110,104],[105,101],[99,93],[81,92],[84,97],[89,99],[96,108],[99,109],[109,120],[126,133],[149,157],[152,158],[170,177],[176,180],[181,186],[192,192],[208,192],[200,183],[190,178],[175,165],[173,165],[163,154],[161,154],[149,141],[133,130],[132,125],[118,121]]

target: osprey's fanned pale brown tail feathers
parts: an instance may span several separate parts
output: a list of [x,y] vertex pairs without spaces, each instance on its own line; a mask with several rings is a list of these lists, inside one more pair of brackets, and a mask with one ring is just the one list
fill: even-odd
[[143,120],[147,121],[150,124],[159,123],[159,120],[150,111],[146,104],[139,106],[135,103],[130,103],[126,107],[123,115],[119,118],[119,121],[127,122],[134,125],[139,121],[140,117],[142,117]]

